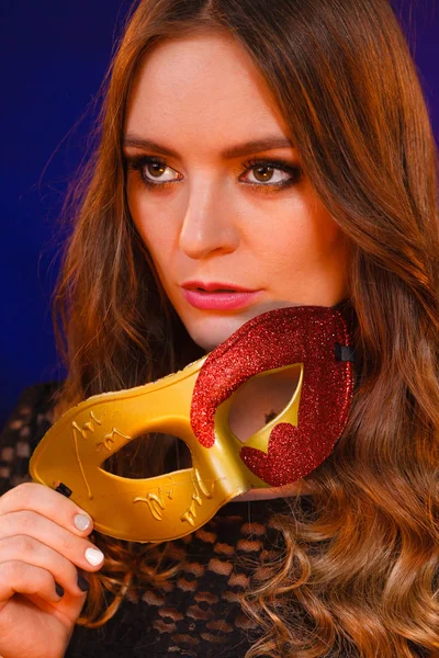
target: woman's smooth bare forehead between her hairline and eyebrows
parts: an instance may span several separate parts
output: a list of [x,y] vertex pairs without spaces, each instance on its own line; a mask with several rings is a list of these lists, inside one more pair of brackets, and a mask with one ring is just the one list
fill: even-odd
[[217,138],[286,135],[264,79],[226,33],[166,41],[147,53],[133,80],[125,132],[206,147]]

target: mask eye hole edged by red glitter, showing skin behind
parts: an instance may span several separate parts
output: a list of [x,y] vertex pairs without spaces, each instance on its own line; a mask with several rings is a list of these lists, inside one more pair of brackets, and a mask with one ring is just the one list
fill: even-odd
[[245,443],[285,409],[294,396],[301,364],[260,373],[235,393],[228,411],[228,426]]

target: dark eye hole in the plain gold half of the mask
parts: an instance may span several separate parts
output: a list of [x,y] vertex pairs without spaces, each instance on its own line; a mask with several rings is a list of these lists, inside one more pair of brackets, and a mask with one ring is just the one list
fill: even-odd
[[126,443],[101,464],[102,470],[139,479],[192,468],[189,447],[178,436],[151,432]]

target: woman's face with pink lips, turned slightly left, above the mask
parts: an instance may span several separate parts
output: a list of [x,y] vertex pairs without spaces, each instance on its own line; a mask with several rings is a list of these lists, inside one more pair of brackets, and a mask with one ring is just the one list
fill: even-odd
[[347,241],[232,36],[198,34],[148,53],[124,141],[133,220],[202,348],[264,310],[346,296]]

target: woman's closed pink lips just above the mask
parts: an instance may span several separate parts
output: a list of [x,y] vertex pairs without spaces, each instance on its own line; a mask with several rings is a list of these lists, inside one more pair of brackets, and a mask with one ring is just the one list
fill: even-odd
[[233,283],[188,281],[181,286],[183,296],[195,308],[233,310],[248,306],[261,291],[243,288]]

